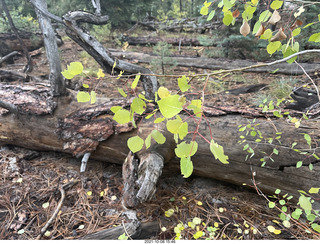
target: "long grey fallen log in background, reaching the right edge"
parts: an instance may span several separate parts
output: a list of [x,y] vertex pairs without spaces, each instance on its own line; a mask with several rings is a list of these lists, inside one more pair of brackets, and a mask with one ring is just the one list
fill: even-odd
[[[126,60],[135,60],[138,63],[151,63],[154,59],[160,59],[157,55],[150,55],[138,52],[122,52],[118,50],[111,50],[113,56]],[[171,62],[177,64],[177,66],[182,67],[192,67],[210,70],[219,69],[236,69],[241,67],[248,67],[257,64],[257,62],[250,60],[228,60],[228,59],[217,59],[217,58],[202,58],[202,57],[170,57]],[[165,61],[163,61],[165,64]],[[261,62],[259,62],[261,63]],[[168,64],[171,65],[171,64]],[[301,63],[301,66],[305,69],[307,73],[314,73],[319,71],[319,64],[314,63]],[[287,74],[287,75],[302,75],[303,70],[296,64],[279,63],[273,66],[265,66],[259,68],[253,68],[245,70],[246,72],[272,72],[277,69],[277,73]]]

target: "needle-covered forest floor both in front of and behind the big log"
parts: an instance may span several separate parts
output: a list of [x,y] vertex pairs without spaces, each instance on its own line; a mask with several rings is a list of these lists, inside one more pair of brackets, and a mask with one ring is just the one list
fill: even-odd
[[[115,46],[112,44],[110,47]],[[128,51],[133,49],[152,52],[152,47],[129,47]],[[117,76],[107,75],[97,80],[93,74],[98,71],[98,65],[70,40],[66,39],[60,50],[63,67],[70,62],[80,61],[88,70],[87,77],[73,81],[73,87],[80,88],[86,83],[98,94],[116,98],[120,96],[116,88],[127,86],[128,80],[117,79]],[[185,50],[184,55],[192,55],[192,52],[194,51],[191,49]],[[49,72],[45,52],[41,49],[35,53],[37,54],[33,57],[35,67],[32,74],[47,78]],[[21,58],[16,60],[16,65],[4,68],[21,70],[23,66],[19,64],[24,62]],[[166,68],[170,73],[181,75],[189,72],[210,72],[183,67]],[[212,96],[208,98],[208,102],[258,106],[268,96],[271,96],[268,99],[288,96],[294,85],[303,85],[306,80],[302,76],[266,73],[226,74],[210,81],[207,91]],[[177,90],[176,78],[161,78],[160,82],[169,89]],[[219,97],[219,94],[230,89],[259,83],[267,84],[267,88],[250,96],[230,95],[227,101]],[[201,89],[202,84],[202,79],[192,83],[194,91]],[[83,174],[79,173],[79,168],[80,160],[67,154],[2,147],[0,239],[36,239],[62,198],[59,186],[71,181],[77,183],[66,189],[62,207],[42,239],[78,239],[127,223],[128,219],[124,215],[127,210],[121,204],[121,166],[109,164],[106,159],[106,162],[90,160],[87,171]],[[169,209],[174,210],[170,217],[166,212]],[[166,172],[165,169],[154,198],[137,208],[139,221],[159,223],[158,231],[150,236],[150,239],[174,239],[177,227],[181,227],[181,239],[193,239],[197,231],[204,233],[200,239],[319,238],[308,234],[302,221],[292,222],[290,228],[284,227],[279,214],[276,209],[270,209],[266,199],[253,188],[199,177],[184,179],[179,172]],[[196,217],[200,220],[195,219]],[[188,226],[188,222],[193,221],[197,223],[196,226]],[[271,233],[268,226],[280,231],[277,234]]]

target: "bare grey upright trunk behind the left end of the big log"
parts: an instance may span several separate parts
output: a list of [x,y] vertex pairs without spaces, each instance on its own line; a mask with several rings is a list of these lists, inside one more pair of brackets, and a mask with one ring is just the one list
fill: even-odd
[[44,16],[37,8],[47,10],[47,4],[45,0],[30,0],[35,6],[36,13],[39,20],[40,29],[44,38],[44,46],[46,48],[47,58],[50,65],[50,85],[53,96],[60,96],[65,94],[66,87],[65,81],[61,74],[61,62],[58,52],[58,45],[56,42],[56,36],[53,31],[51,21],[47,16]]

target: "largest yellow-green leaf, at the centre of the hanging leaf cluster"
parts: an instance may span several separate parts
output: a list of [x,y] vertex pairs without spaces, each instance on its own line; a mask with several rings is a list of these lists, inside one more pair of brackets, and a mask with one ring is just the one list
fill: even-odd
[[179,95],[168,96],[158,101],[161,114],[169,119],[180,113],[182,104]]

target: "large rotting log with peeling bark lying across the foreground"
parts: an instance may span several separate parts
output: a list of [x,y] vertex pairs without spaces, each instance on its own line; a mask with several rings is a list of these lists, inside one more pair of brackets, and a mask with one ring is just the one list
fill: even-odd
[[[17,92],[19,89],[12,86]],[[14,104],[17,113],[8,113],[2,110],[0,116],[0,142],[1,145],[13,144],[35,150],[50,150],[57,152],[70,152],[75,156],[82,156],[86,152],[91,152],[91,158],[109,163],[123,164],[128,157],[129,149],[127,140],[131,136],[139,135],[143,138],[152,131],[152,119],[145,121],[137,118],[136,123],[139,129],[132,125],[119,126],[112,120],[111,106],[118,105],[126,107],[125,100],[103,100],[98,99],[96,105],[79,104],[76,102],[75,94],[69,91],[68,96],[60,98],[49,98],[48,88],[25,88],[25,93],[17,93],[15,98],[9,92],[9,85],[0,89],[0,100]],[[39,92],[41,91],[41,92]],[[9,94],[9,95],[8,95]],[[8,95],[8,96],[6,96]],[[28,95],[28,96],[27,96]],[[38,98],[36,98],[38,96]],[[11,100],[8,100],[11,97]],[[7,99],[7,100],[6,100]],[[32,100],[33,99],[33,100]],[[37,105],[35,105],[37,104]],[[39,106],[41,105],[41,106]],[[148,104],[148,111],[152,111],[154,105]],[[297,190],[308,191],[311,187],[320,185],[319,162],[314,157],[294,152],[292,143],[296,142],[295,148],[301,151],[312,151],[319,155],[320,149],[313,145],[312,150],[304,139],[304,133],[312,137],[312,142],[319,141],[320,126],[319,120],[309,119],[302,122],[299,128],[289,123],[285,119],[269,118],[265,119],[261,111],[251,108],[230,108],[230,107],[204,107],[206,120],[202,121],[199,132],[210,140],[210,133],[214,140],[224,147],[230,164],[224,165],[216,160],[207,142],[199,138],[198,152],[192,157],[194,163],[194,174],[198,176],[210,177],[233,184],[253,185],[253,178],[265,193],[273,193],[276,188],[282,192],[298,196]],[[187,115],[181,114],[182,119]],[[247,151],[243,150],[244,145],[238,143],[238,126],[246,125],[253,119],[255,124],[259,124],[257,129],[262,132],[263,138],[275,138],[276,132],[283,132],[281,144],[274,141],[269,144],[261,141],[256,142],[256,138],[248,139],[255,155],[246,161]],[[211,129],[210,129],[211,128]],[[134,170],[129,170],[132,177],[125,176],[128,186],[135,182],[133,190],[124,193],[127,200],[124,204],[134,207],[140,201],[148,200],[156,187],[157,177],[162,171],[162,162],[165,171],[177,172],[180,161],[175,157],[175,143],[172,136],[166,132],[165,128],[159,128],[167,137],[163,145],[154,144],[148,150],[142,150],[134,155],[137,160]],[[195,125],[190,123],[189,132],[195,130]],[[190,134],[187,140],[190,140]],[[273,154],[274,160],[268,160],[264,167],[261,167],[260,159],[271,155],[274,148],[279,154]],[[129,155],[130,156],[130,155]],[[132,155],[131,155],[132,156]],[[148,161],[153,162],[148,164]],[[303,161],[303,166],[296,168],[296,163]],[[309,170],[309,164],[313,164],[313,170]],[[89,161],[90,164],[90,161]],[[157,168],[154,167],[156,164]],[[126,164],[125,164],[126,165]],[[130,166],[130,165],[129,165]],[[125,167],[125,166],[124,166]],[[153,171],[157,172],[153,172]],[[149,173],[148,173],[149,171]],[[125,172],[125,170],[124,170]],[[135,173],[136,172],[136,173]],[[153,173],[153,174],[150,174]],[[150,177],[152,176],[152,179]],[[130,181],[130,179],[131,181]],[[126,183],[126,182],[125,182]],[[148,184],[150,183],[150,186]],[[129,187],[130,188],[130,187]],[[141,192],[146,188],[145,192]],[[127,195],[126,195],[127,194]],[[126,198],[126,197],[125,197]]]

